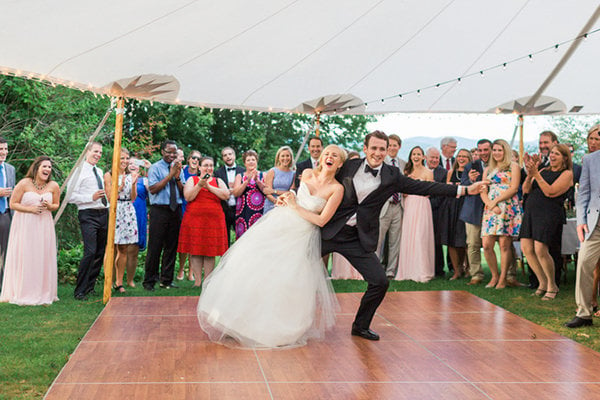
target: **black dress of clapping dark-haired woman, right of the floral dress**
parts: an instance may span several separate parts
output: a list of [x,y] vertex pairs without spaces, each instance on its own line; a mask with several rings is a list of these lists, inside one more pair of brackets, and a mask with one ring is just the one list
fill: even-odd
[[[550,169],[540,171],[540,175],[549,185],[552,185],[562,173],[563,171]],[[549,247],[560,247],[562,228],[567,222],[564,208],[566,198],[567,193],[558,197],[547,197],[537,181],[533,181],[525,203],[519,239],[533,239]]]

